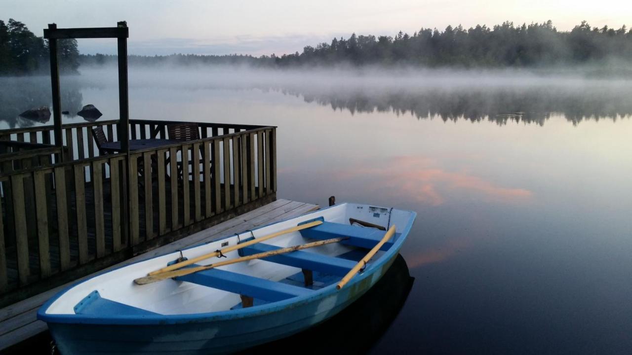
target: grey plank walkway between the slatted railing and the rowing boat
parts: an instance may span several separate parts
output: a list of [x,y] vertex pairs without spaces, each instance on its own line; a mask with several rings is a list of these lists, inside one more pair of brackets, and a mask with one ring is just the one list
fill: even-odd
[[[194,244],[212,241],[236,232],[252,229],[253,227],[293,218],[318,208],[319,207],[317,205],[312,205],[310,203],[276,200],[275,202],[264,205],[263,207],[246,212],[243,215],[239,215],[236,218],[221,222],[216,226],[204,229],[203,231],[191,234],[190,236],[174,241],[173,243],[166,244],[142,255],[135,256],[125,262],[113,265],[106,270],[118,268],[123,265],[152,258],[164,253],[170,253]],[[87,279],[91,276],[92,275],[87,275],[82,279]],[[36,319],[37,309],[46,302],[47,299],[51,298],[54,294],[64,289],[64,287],[68,287],[76,281],[77,280],[1,309],[0,351],[45,332],[47,329],[46,323],[40,322]]]

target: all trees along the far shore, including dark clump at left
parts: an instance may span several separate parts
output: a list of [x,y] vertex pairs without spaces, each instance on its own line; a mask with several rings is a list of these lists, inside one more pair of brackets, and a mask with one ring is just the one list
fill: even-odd
[[[133,52],[133,44],[130,45]],[[62,73],[78,73],[80,64],[115,64],[116,55],[79,54],[76,40],[59,41]],[[302,52],[251,56],[248,54],[169,56],[130,55],[130,66],[238,64],[265,68],[310,66],[418,66],[425,68],[542,68],[632,61],[632,30],[591,27],[586,21],[559,31],[552,21],[487,27],[421,28],[412,35],[356,35],[331,43],[307,45]],[[20,21],[0,20],[0,75],[48,73],[47,41]]]

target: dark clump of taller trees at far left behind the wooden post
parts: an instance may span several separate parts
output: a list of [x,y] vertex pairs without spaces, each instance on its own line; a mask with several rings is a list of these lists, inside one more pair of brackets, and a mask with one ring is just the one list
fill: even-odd
[[[59,71],[76,74],[79,51],[75,39],[58,40]],[[20,21],[0,20],[0,75],[49,73],[48,40],[37,37]]]

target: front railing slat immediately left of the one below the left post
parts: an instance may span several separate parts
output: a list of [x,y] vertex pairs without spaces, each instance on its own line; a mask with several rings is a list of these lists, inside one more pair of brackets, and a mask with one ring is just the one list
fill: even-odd
[[48,206],[44,172],[35,171],[33,174],[35,185],[35,215],[37,216],[37,239],[39,243],[40,277],[51,275],[51,253],[48,239]]

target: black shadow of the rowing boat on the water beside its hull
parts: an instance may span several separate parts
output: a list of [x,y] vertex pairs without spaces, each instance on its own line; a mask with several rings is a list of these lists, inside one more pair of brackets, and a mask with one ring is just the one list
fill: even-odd
[[[413,287],[406,260],[398,255],[374,287],[336,316],[286,339],[238,354],[364,354],[384,335]],[[321,339],[322,341],[317,341]]]

